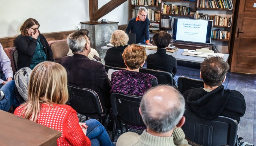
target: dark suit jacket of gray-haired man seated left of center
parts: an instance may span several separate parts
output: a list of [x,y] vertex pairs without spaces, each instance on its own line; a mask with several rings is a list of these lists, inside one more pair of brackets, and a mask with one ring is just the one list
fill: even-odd
[[88,88],[95,91],[100,98],[103,107],[111,107],[110,89],[111,83],[108,79],[105,66],[81,54],[66,56],[60,59],[60,64],[68,72],[70,86]]

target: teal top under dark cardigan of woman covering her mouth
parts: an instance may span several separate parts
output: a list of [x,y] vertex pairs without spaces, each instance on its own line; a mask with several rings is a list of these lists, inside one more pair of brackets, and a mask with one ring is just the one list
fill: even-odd
[[[29,39],[32,40],[32,37],[29,36]],[[33,55],[33,58],[32,58],[32,61],[31,61],[31,64],[30,64],[29,68],[30,69],[34,69],[34,67],[38,63],[47,61],[46,58],[47,58],[47,56],[46,56],[46,54],[44,52],[44,46],[43,46],[43,44],[40,41],[40,37],[38,36],[38,38],[37,38],[37,45],[36,45],[35,52],[34,52],[34,55]]]

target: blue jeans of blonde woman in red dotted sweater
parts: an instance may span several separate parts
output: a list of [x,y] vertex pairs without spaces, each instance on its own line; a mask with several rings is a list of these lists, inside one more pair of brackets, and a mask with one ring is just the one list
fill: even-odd
[[102,124],[95,119],[90,119],[84,121],[88,126],[86,136],[90,139],[92,146],[104,145],[104,146],[112,146],[114,145],[111,142],[108,133]]

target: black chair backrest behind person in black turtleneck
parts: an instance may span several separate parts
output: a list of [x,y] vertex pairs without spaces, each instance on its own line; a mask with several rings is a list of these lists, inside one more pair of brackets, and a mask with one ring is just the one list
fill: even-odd
[[144,72],[155,76],[158,80],[158,84],[170,84],[174,85],[173,76],[169,72],[154,70],[154,69],[139,69],[139,72]]

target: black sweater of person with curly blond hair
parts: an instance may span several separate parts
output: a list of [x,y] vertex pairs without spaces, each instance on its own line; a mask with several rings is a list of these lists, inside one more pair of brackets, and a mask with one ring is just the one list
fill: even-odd
[[127,46],[128,45],[109,48],[104,58],[105,64],[108,66],[126,68],[124,65],[122,54],[123,50]]

